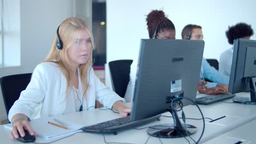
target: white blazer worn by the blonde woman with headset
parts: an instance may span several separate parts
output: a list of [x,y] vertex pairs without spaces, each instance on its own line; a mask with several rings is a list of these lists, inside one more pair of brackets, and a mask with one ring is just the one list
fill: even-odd
[[[86,107],[84,106],[83,110],[95,106],[95,100],[109,108],[112,108],[115,101],[118,100],[125,103],[123,98],[104,86],[93,69],[90,69],[88,75],[90,83],[84,96],[86,98],[83,103],[86,104]],[[66,87],[66,77],[57,64],[52,62],[38,64],[27,88],[21,92],[19,99],[11,107],[8,115],[9,121],[17,113],[23,113],[30,119],[62,115],[67,103]]]

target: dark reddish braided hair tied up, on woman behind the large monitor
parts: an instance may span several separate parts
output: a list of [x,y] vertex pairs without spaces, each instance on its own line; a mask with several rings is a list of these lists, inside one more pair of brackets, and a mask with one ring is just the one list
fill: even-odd
[[[162,21],[162,20],[165,20],[166,21]],[[154,35],[154,32],[155,32],[155,28],[156,26],[158,26],[158,23],[160,23],[157,31],[156,31],[156,34],[158,34],[159,32],[162,32],[164,30],[167,30],[167,29],[173,29],[175,31],[175,27],[172,23],[172,21],[170,21],[167,16],[165,15],[164,11],[162,10],[152,10],[148,15],[147,15],[147,18],[146,18],[146,21],[147,21],[147,26],[148,26],[148,35],[149,35],[149,38],[151,39]]]

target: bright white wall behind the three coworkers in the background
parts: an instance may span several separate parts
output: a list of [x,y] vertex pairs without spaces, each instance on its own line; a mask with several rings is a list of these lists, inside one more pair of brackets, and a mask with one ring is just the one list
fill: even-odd
[[[146,15],[153,9],[163,9],[168,15],[176,27],[176,39],[181,39],[185,25],[202,26],[203,55],[219,59],[220,53],[231,48],[225,36],[228,26],[246,22],[256,32],[255,5],[253,0],[107,0],[107,63],[137,57],[140,39],[148,38]],[[107,75],[106,83],[111,85]]]

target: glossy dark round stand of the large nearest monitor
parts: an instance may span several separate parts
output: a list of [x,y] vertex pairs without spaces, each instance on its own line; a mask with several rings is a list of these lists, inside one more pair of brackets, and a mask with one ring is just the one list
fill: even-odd
[[196,133],[196,127],[194,125],[182,124],[181,121],[179,121],[176,111],[168,111],[171,112],[174,123],[160,124],[149,127],[147,130],[149,135],[155,137],[176,138],[193,135]]

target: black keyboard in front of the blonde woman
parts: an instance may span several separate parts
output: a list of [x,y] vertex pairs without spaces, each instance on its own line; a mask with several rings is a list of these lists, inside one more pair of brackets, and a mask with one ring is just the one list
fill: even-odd
[[146,122],[152,121],[153,119],[158,119],[161,115],[142,119],[139,121],[131,121],[131,117],[121,117],[117,119],[112,119],[110,121],[90,125],[84,127],[83,131],[89,133],[115,133],[118,130],[123,130],[125,128],[135,127],[138,124],[145,124]]

